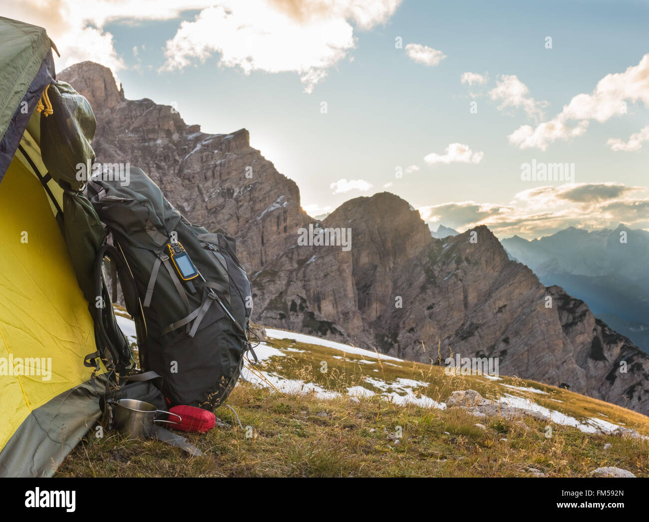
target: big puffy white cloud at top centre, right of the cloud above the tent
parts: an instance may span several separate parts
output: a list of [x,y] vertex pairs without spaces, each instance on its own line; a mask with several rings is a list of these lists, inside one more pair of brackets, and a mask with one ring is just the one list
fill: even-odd
[[304,91],[311,93],[328,69],[356,47],[351,23],[361,29],[385,23],[400,1],[219,2],[180,24],[166,43],[161,70],[182,69],[218,53],[219,66],[238,67],[246,75],[297,73]]

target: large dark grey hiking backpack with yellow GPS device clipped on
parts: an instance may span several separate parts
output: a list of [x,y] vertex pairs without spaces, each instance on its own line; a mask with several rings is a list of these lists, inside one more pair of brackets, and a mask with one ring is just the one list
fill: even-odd
[[87,185],[109,234],[97,266],[110,259],[134,318],[140,367],[162,376],[167,405],[214,409],[251,351],[252,290],[236,243],[191,224],[141,169],[130,167],[128,183],[118,178],[104,171]]

